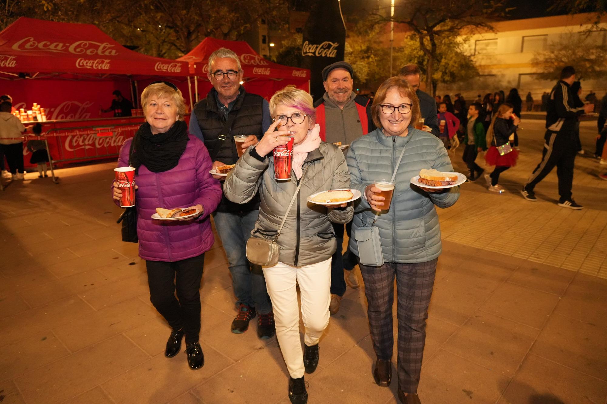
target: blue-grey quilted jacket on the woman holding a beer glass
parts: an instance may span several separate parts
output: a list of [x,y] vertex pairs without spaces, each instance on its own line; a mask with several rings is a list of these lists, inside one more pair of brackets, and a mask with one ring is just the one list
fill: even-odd
[[[382,252],[385,262],[420,263],[433,260],[441,254],[441,230],[435,206],[449,207],[459,198],[459,187],[443,193],[427,193],[410,183],[421,169],[453,171],[447,150],[436,136],[409,128],[407,136],[386,136],[376,129],[350,144],[347,155],[350,169],[350,187],[364,195],[365,187],[378,178],[391,178],[402,147],[405,154],[396,173],[392,205],[379,214]],[[352,230],[362,221],[370,225],[375,216],[369,203],[361,198],[355,206]],[[350,249],[358,254],[354,237]]]

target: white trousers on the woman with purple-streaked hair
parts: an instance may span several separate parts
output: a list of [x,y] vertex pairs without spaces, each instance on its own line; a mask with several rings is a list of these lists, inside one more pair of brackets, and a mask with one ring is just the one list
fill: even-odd
[[304,375],[304,352],[299,338],[299,306],[296,283],[302,302],[304,343],[318,343],[329,324],[331,302],[331,258],[317,264],[291,266],[282,262],[263,267],[263,276],[272,300],[276,337],[282,357],[293,379]]

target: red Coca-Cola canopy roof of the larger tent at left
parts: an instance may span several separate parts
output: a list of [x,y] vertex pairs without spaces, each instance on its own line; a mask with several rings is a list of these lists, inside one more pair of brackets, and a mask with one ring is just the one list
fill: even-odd
[[126,49],[89,24],[21,17],[0,32],[0,73],[188,76],[186,62]]

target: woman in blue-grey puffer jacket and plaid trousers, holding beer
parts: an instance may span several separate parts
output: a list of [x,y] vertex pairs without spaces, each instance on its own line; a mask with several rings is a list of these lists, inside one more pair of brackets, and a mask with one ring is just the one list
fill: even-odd
[[[402,78],[389,78],[376,92],[371,110],[378,129],[351,143],[347,155],[350,187],[364,195],[356,206],[354,237],[350,249],[359,255],[356,231],[370,225],[378,215],[384,265],[360,265],[365,281],[368,318],[377,355],[373,377],[380,386],[392,379],[392,303],[394,278],[398,283],[398,396],[402,403],[419,403],[417,387],[421,370],[426,318],[436,261],[441,254],[441,233],[435,206],[452,206],[459,187],[426,189],[410,183],[421,169],[453,171],[443,143],[413,128],[419,120],[419,101]],[[392,203],[384,207],[384,197],[373,184],[390,178],[402,148],[404,156],[395,178]],[[382,210],[386,209],[386,210]]]

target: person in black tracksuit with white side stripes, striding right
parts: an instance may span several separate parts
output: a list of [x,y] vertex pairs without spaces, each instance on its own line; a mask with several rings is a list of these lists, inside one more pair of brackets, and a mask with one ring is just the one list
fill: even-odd
[[577,145],[575,141],[575,125],[578,116],[591,112],[591,104],[575,107],[571,94],[571,84],[575,81],[575,69],[566,66],[561,71],[560,80],[550,92],[548,112],[546,112],[546,135],[540,164],[527,183],[521,189],[521,194],[527,201],[537,201],[534,187],[557,166],[558,175],[558,206],[569,209],[582,209],[571,197],[573,184],[573,169]]

